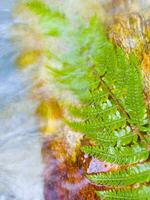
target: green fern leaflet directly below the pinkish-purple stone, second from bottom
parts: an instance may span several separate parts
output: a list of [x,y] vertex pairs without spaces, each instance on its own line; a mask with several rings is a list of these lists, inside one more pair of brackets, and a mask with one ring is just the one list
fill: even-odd
[[126,186],[150,181],[149,169],[150,163],[146,163],[116,172],[89,175],[88,178],[96,184]]

